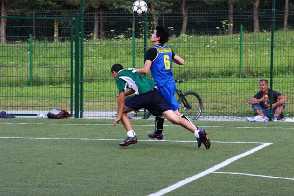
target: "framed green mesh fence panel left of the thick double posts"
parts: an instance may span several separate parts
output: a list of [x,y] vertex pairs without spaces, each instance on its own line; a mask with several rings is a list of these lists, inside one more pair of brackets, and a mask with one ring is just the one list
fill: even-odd
[[[13,34],[6,36],[6,44],[0,47],[1,110],[22,116],[53,108],[73,112],[73,18],[2,19]],[[44,35],[53,27],[43,25],[56,20],[69,24],[62,27],[66,34],[58,38]]]

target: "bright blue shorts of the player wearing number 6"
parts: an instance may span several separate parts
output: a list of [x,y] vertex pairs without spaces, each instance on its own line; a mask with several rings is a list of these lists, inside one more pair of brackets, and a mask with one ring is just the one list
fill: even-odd
[[163,85],[158,88],[160,94],[166,99],[172,111],[175,111],[180,107],[180,104],[177,102],[174,96],[175,89],[175,82]]

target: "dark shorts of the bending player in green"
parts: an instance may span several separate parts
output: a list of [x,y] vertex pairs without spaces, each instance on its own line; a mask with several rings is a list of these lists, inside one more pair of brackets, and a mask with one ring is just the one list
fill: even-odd
[[146,108],[152,115],[160,116],[162,112],[171,110],[165,98],[159,93],[158,89],[151,89],[149,92],[135,95],[127,99],[124,105],[134,110]]

